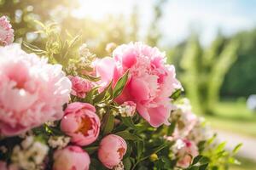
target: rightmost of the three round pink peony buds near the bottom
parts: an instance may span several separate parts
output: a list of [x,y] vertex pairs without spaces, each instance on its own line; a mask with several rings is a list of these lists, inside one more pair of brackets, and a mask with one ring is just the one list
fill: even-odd
[[98,150],[99,160],[105,167],[112,169],[119,165],[127,150],[125,140],[115,134],[104,137]]

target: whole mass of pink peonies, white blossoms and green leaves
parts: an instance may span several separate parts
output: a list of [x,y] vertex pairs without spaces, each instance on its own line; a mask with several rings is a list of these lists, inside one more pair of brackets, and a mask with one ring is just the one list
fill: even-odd
[[98,58],[55,24],[43,49],[0,18],[0,169],[226,169],[228,152],[191,111],[175,67],[143,42]]

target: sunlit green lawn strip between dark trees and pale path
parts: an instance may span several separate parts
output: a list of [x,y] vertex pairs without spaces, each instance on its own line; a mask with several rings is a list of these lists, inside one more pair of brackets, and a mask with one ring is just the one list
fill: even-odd
[[223,100],[214,116],[205,116],[212,127],[256,138],[256,112],[249,111],[243,100]]

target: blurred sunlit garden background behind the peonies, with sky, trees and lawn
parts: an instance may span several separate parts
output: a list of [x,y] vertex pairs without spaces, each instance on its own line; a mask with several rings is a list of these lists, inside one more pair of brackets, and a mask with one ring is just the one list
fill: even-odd
[[256,168],[256,1],[0,0],[15,41],[38,47],[38,25],[81,34],[99,57],[108,42],[142,41],[166,51],[195,113],[228,146],[243,143],[241,167]]

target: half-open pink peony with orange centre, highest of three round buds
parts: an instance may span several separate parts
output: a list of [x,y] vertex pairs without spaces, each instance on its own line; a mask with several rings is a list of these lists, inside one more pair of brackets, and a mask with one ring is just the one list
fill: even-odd
[[75,102],[67,105],[61,130],[81,146],[93,143],[99,136],[101,121],[93,105]]

